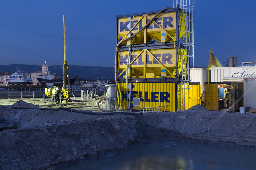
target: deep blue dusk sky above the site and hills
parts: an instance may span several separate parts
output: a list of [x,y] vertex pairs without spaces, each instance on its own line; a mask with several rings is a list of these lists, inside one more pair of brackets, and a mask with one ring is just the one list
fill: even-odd
[[[136,4],[134,3],[136,2]],[[195,66],[208,67],[209,47],[221,63],[229,56],[254,61],[255,1],[195,0]],[[114,67],[116,15],[161,10],[172,1],[0,0],[0,65],[67,64]]]

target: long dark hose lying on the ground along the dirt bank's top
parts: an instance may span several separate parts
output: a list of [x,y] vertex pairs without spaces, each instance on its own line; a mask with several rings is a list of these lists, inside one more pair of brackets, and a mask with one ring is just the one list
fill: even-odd
[[39,110],[55,110],[55,111],[67,111],[67,112],[76,112],[83,113],[87,115],[115,115],[115,114],[124,114],[124,115],[142,115],[142,112],[92,112],[92,111],[83,111],[83,110],[75,110],[75,109],[54,109],[54,108],[39,108],[39,107],[15,107],[15,106],[0,106],[2,108],[10,108],[10,109],[39,109]]

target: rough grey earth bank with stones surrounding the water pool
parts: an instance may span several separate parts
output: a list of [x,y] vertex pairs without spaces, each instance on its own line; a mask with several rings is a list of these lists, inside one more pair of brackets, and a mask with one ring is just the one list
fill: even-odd
[[141,116],[0,107],[0,169],[47,169],[159,141],[255,148],[255,122],[255,114],[208,111],[201,105]]

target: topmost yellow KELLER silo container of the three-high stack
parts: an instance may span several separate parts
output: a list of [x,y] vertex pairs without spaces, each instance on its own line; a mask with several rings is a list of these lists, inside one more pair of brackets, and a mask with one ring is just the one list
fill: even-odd
[[[176,41],[176,22],[177,22],[177,9],[173,11],[160,13],[157,18],[148,25],[148,27],[136,35],[133,43],[142,44],[155,39],[158,42]],[[154,12],[152,12],[154,13]],[[118,17],[118,38],[127,38],[131,34],[135,34],[144,25],[146,25],[155,14],[138,13],[136,15],[128,15],[125,17]],[[179,11],[179,27],[181,28],[183,13]],[[179,38],[182,37],[183,30],[180,29]],[[122,45],[130,44],[130,41],[122,43]]]

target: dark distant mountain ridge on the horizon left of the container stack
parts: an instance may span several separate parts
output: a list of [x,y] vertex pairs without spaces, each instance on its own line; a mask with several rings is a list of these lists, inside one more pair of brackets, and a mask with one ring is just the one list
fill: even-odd
[[[110,80],[114,79],[114,67],[97,67],[97,66],[77,66],[68,65],[70,67],[67,70],[67,74],[70,77],[78,76],[79,78],[90,79],[90,80]],[[0,65],[0,71],[16,71],[20,68],[21,71],[27,71],[29,73],[35,71],[42,71],[42,66],[38,65],[27,65],[27,64],[10,64]],[[57,76],[63,76],[63,68],[61,65],[53,65],[48,67],[49,71],[56,73]]]

